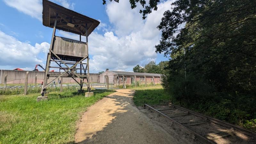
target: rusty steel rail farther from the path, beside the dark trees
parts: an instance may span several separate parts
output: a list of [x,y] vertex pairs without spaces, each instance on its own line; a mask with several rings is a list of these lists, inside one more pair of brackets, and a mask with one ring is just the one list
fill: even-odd
[[169,103],[169,104],[170,104],[171,106],[177,108],[177,109],[180,109],[180,110],[182,110],[182,111],[188,112],[188,113],[190,113],[190,114],[192,114],[192,115],[195,115],[195,116],[198,116],[198,117],[201,117],[201,118],[204,118],[204,119],[206,118],[206,119],[208,119],[209,121],[211,121],[211,122],[213,122],[213,123],[215,123],[215,124],[219,124],[219,125],[222,125],[222,126],[225,126],[225,127],[228,127],[228,128],[233,128],[233,129],[235,129],[236,131],[239,131],[239,132],[242,132],[242,133],[245,132],[247,135],[250,135],[250,136],[252,136],[252,135],[255,136],[255,135],[256,135],[255,132],[250,131],[250,130],[246,130],[246,129],[244,129],[244,128],[242,128],[242,127],[239,127],[239,126],[237,126],[237,125],[230,124],[230,123],[221,121],[221,120],[219,120],[219,119],[212,118],[212,117],[210,117],[210,116],[205,116],[205,115],[203,115],[203,114],[200,114],[200,113],[191,111],[191,110],[189,110],[189,109],[182,108],[182,107],[180,107],[180,106],[176,106],[176,105],[174,105],[174,104],[172,104],[172,103]]

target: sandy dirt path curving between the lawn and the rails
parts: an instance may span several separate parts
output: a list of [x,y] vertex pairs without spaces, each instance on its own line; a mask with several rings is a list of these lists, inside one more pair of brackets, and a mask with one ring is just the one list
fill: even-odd
[[77,143],[188,143],[154,124],[120,89],[90,107],[77,125]]

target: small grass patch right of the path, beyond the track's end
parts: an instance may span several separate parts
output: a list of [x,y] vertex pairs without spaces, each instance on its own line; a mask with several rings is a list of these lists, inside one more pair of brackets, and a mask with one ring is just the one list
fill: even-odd
[[170,101],[171,96],[164,92],[162,86],[134,88],[133,102],[136,106],[161,105]]

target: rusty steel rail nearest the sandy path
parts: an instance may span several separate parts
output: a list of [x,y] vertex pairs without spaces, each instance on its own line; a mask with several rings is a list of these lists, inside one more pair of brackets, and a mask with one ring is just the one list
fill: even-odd
[[166,117],[167,119],[169,119],[170,121],[172,121],[174,124],[176,124],[177,126],[179,126],[180,128],[182,128],[182,129],[183,129],[185,132],[187,132],[188,134],[194,135],[199,141],[201,141],[201,142],[203,142],[203,143],[207,143],[207,144],[216,144],[214,141],[209,140],[209,139],[207,139],[207,138],[201,136],[200,134],[198,134],[198,133],[196,133],[196,132],[194,132],[194,131],[188,129],[188,128],[185,127],[184,125],[178,123],[177,121],[175,121],[175,120],[172,119],[171,117],[166,116],[165,114],[161,113],[160,111],[156,110],[155,108],[152,108],[152,107],[150,107],[150,106],[147,105],[147,104],[144,104],[144,109],[145,109],[146,107],[148,107],[148,108],[150,108],[150,109],[156,111],[156,112],[159,113],[160,115]]

